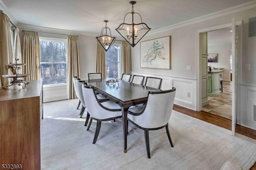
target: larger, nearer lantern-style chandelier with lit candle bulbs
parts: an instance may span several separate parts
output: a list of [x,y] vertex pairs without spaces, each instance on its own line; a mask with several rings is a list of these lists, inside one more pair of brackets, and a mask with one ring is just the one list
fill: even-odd
[[[124,22],[120,24],[118,28],[116,28],[116,31],[128,42],[132,47],[134,47],[151,29],[142,22],[142,18],[139,13],[134,12],[133,5],[136,4],[135,1],[130,1],[130,4],[132,4],[132,12],[128,12],[127,14],[132,14],[132,24],[125,23],[125,17],[124,16]],[[134,23],[134,14],[137,14],[136,16],[139,16],[138,21],[141,22],[139,24]]]

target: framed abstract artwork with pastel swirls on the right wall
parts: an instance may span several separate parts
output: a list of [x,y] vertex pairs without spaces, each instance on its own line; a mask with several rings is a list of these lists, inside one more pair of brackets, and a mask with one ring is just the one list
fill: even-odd
[[171,36],[140,42],[140,67],[171,69]]

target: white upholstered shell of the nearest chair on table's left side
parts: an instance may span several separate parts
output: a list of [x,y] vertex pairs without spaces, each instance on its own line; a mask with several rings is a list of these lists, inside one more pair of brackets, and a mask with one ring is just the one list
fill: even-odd
[[120,111],[111,111],[110,113],[109,109],[107,110],[106,107],[100,104],[93,86],[88,86],[84,83],[82,91],[87,111],[94,119],[104,120],[120,115]]

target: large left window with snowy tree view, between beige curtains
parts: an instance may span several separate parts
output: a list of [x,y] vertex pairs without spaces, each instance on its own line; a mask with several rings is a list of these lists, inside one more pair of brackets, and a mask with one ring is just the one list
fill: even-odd
[[67,40],[40,38],[40,78],[43,85],[67,83]]

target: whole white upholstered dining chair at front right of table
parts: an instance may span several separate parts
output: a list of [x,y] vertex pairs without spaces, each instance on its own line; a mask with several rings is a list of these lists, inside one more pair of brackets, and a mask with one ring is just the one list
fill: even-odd
[[158,130],[165,127],[169,142],[173,147],[168,121],[172,114],[175,93],[176,88],[174,87],[166,91],[149,91],[146,105],[128,110],[128,120],[144,130],[148,158],[150,158],[149,130]]

